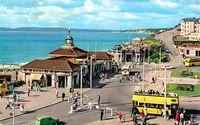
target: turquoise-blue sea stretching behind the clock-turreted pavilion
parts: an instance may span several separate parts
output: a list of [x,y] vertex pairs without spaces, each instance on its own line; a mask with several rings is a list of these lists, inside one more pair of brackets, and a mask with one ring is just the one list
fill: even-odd
[[[0,31],[0,64],[24,64],[49,58],[48,53],[64,46],[67,31]],[[71,31],[74,45],[87,51],[107,51],[149,34]]]

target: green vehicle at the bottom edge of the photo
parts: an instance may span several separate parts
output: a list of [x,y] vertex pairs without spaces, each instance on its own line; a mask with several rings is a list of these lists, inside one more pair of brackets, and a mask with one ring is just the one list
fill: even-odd
[[51,116],[40,116],[36,118],[35,125],[58,125],[59,119]]

